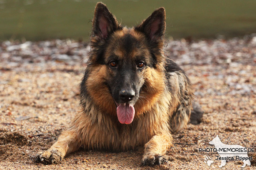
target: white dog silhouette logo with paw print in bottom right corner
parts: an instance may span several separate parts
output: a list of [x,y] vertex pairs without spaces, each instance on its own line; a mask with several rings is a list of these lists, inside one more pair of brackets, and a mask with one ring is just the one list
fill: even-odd
[[[251,160],[252,158],[248,157],[247,149],[245,147],[240,145],[226,145],[221,142],[218,135],[214,139],[212,139],[209,144],[214,145],[215,148],[213,149],[213,151],[217,151],[219,154],[219,156],[216,156],[217,158],[215,159],[221,160],[221,165],[219,165],[219,167],[223,167],[224,165],[226,165],[226,161],[229,160],[242,160],[244,162],[244,165],[242,165],[242,167],[245,167],[246,164],[251,165],[251,162],[249,160]],[[209,157],[204,158],[204,162],[207,163],[208,166],[213,163],[213,161],[210,159],[211,158]]]

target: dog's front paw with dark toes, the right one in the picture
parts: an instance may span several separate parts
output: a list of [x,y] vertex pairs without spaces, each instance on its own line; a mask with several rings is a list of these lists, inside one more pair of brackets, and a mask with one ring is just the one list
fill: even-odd
[[153,166],[153,165],[160,165],[161,163],[166,163],[166,162],[168,161],[165,157],[163,157],[163,155],[148,153],[143,156],[141,163],[143,166],[144,165]]

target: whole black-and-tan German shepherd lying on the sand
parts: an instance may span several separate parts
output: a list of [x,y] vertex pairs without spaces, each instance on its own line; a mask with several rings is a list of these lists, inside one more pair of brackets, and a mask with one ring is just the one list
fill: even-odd
[[142,165],[166,162],[172,133],[193,111],[193,90],[185,72],[164,55],[165,9],[140,25],[120,24],[105,4],[94,11],[89,61],[80,84],[80,105],[70,126],[35,162],[59,163],[84,149],[133,150],[144,146]]

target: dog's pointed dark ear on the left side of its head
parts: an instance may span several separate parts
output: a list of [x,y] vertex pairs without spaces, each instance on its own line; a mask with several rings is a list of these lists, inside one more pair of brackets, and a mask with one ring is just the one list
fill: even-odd
[[97,3],[93,17],[93,36],[106,39],[113,31],[120,28],[116,17],[108,10],[105,4]]

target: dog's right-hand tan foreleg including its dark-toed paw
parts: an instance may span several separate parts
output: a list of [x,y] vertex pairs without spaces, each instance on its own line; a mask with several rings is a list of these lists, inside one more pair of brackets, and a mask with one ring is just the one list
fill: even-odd
[[161,163],[167,162],[167,159],[163,155],[171,145],[171,134],[153,136],[145,145],[142,165],[160,165]]

